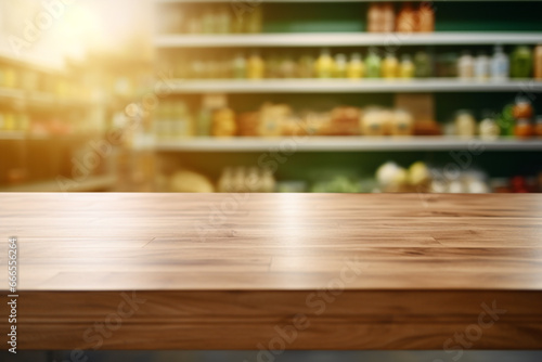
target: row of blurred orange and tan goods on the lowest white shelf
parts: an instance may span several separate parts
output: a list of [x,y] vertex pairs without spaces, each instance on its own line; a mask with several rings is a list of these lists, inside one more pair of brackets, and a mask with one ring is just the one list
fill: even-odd
[[[409,100],[413,100],[412,96]],[[412,101],[411,103],[413,103]],[[402,102],[404,103],[404,102]],[[425,103],[424,103],[425,104]],[[424,108],[426,106],[424,105]],[[287,104],[264,103],[254,112],[235,113],[225,95],[206,95],[198,112],[183,101],[160,102],[155,115],[159,139],[188,137],[291,137],[291,135],[449,135],[494,140],[542,137],[542,116],[525,96],[500,113],[483,109],[477,117],[470,109],[459,109],[448,124],[438,124],[399,105],[395,108],[371,105],[337,106],[327,112],[296,112]],[[413,111],[414,112],[414,111]]]

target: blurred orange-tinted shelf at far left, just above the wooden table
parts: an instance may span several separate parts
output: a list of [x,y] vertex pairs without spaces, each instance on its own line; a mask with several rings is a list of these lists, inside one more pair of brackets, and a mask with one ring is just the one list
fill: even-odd
[[[116,181],[117,178],[115,176],[94,176],[79,182],[75,181],[77,184],[69,188],[67,191],[96,191],[111,188],[116,183]],[[62,188],[60,186],[59,182],[56,182],[56,180],[51,180],[14,186],[0,186],[0,192],[62,192]]]

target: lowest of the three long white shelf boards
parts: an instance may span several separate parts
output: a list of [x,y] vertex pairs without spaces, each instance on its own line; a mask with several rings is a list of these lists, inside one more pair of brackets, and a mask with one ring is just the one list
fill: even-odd
[[289,138],[194,138],[158,141],[162,152],[325,152],[325,151],[542,151],[542,139],[480,140],[444,137],[289,137]]

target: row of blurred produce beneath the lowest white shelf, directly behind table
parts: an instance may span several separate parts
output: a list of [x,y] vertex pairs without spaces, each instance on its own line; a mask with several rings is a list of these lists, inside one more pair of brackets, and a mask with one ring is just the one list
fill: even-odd
[[218,180],[179,170],[160,177],[162,191],[171,192],[287,192],[287,193],[534,193],[542,192],[542,172],[537,177],[514,176],[491,179],[485,171],[472,169],[447,172],[443,167],[415,161],[403,167],[395,161],[380,165],[373,176],[359,177],[322,169],[308,180],[275,180],[274,174],[258,167],[227,167]]

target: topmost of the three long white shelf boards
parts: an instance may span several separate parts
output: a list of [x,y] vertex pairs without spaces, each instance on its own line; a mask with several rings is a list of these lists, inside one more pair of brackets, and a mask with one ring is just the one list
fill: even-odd
[[470,46],[470,44],[535,44],[542,33],[470,33],[447,31],[427,34],[371,33],[285,33],[242,35],[160,35],[157,48],[208,47],[401,47],[401,46]]

